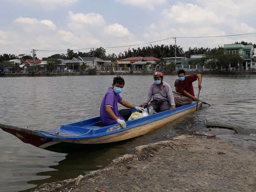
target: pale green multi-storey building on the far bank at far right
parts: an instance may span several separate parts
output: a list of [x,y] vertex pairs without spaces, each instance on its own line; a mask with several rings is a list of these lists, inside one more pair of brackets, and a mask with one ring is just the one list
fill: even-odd
[[243,63],[238,63],[239,70],[251,70],[253,62],[253,45],[244,44],[224,44],[225,54],[238,54],[243,59]]

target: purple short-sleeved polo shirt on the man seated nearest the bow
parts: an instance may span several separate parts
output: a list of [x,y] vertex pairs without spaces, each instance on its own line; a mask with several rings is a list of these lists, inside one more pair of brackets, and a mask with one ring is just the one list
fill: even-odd
[[104,126],[109,126],[114,123],[117,123],[113,118],[109,116],[109,114],[106,112],[105,107],[110,106],[114,112],[114,114],[124,120],[124,118],[118,113],[118,107],[117,103],[121,102],[123,98],[119,95],[113,92],[113,89],[109,87],[109,90],[106,92],[105,96],[102,99],[101,109],[100,109],[100,116],[101,120]]

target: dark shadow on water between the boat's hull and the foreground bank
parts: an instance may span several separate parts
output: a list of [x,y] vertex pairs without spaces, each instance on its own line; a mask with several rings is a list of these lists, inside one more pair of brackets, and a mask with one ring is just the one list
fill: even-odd
[[32,184],[35,187],[20,192],[30,192],[45,183],[75,178],[79,175],[88,174],[90,171],[105,168],[116,157],[132,151],[129,142],[135,139],[136,138],[112,144],[99,145],[94,148],[77,148],[75,151],[68,153],[65,159],[59,161],[56,165],[49,166],[51,170],[36,174],[39,176],[38,178],[44,177],[44,179],[27,182],[27,184]]

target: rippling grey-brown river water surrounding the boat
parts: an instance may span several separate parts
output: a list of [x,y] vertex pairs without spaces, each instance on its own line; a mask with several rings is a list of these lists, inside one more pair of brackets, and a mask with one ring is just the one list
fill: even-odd
[[[59,128],[99,115],[102,97],[113,75],[0,78],[0,123],[30,129]],[[124,75],[124,100],[139,105],[151,75]],[[171,85],[177,77],[165,75]],[[197,81],[194,82],[198,94]],[[167,140],[193,129],[204,120],[233,126],[239,134],[256,134],[256,75],[204,75],[200,99],[211,104],[168,123],[161,129],[98,149],[63,154],[25,144],[0,129],[0,191],[30,191],[41,184],[74,178],[102,169],[136,146]],[[122,108],[120,106],[120,108]]]

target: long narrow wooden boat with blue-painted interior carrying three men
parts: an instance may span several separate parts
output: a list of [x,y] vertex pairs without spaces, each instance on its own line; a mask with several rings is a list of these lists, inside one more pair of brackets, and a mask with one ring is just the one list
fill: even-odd
[[[202,105],[202,102],[198,105]],[[177,107],[176,110],[162,111],[127,121],[126,129],[121,128],[119,124],[102,126],[99,116],[64,124],[60,129],[32,130],[5,124],[0,124],[0,128],[18,137],[24,143],[49,151],[66,153],[67,147],[70,146],[76,148],[83,144],[83,146],[94,147],[98,144],[113,143],[144,135],[192,111],[196,111],[195,101],[192,104]]]

